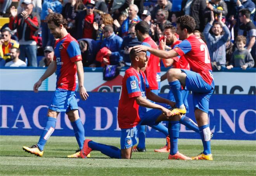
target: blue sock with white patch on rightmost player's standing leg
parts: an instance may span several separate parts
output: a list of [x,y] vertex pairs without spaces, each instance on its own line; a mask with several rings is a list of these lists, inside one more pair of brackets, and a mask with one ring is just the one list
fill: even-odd
[[211,154],[211,130],[209,124],[200,126],[199,131],[204,146],[203,154],[209,155]]

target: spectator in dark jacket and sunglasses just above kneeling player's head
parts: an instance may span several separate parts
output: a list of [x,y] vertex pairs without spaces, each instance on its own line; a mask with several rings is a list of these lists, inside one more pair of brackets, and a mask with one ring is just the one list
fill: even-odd
[[131,59],[130,59],[130,50],[135,45],[140,45],[141,42],[138,41],[138,38],[135,33],[135,25],[131,24],[129,27],[128,36],[126,36],[123,40],[123,43],[121,45],[121,55],[123,55],[123,61],[125,62],[126,67],[131,66]]

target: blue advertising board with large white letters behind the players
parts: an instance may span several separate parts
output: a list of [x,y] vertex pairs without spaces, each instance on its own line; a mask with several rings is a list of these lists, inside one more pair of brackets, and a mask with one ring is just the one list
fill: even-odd
[[[40,135],[47,120],[47,108],[52,95],[53,91],[0,91],[0,135]],[[89,95],[86,101],[78,99],[85,136],[119,137],[119,93],[89,92]],[[166,97],[167,94],[160,95]],[[190,110],[187,116],[195,120],[192,95],[189,95],[188,102]],[[256,140],[255,95],[214,94],[209,108],[209,123],[214,139]],[[147,131],[147,137],[164,137],[150,127]],[[74,136],[65,113],[60,113],[53,135]],[[182,125],[180,138],[200,137]]]

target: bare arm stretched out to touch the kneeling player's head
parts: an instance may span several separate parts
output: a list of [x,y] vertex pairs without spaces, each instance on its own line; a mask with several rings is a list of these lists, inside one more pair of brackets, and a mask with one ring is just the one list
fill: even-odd
[[136,45],[133,48],[135,48],[135,50],[137,52],[149,51],[153,55],[156,55],[157,57],[161,57],[163,59],[169,59],[169,58],[178,56],[178,53],[175,50],[170,50],[170,51],[156,50],[154,48],[150,48],[150,47],[147,47],[147,46],[144,46],[144,45]]

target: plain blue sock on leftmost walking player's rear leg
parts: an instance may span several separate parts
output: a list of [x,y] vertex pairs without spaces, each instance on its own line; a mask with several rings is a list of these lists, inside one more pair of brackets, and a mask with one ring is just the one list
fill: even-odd
[[71,122],[71,125],[74,130],[74,134],[76,136],[76,141],[79,145],[79,149],[83,149],[83,141],[85,140],[85,129],[83,128],[83,124],[81,122],[81,119],[77,119],[74,122]]

